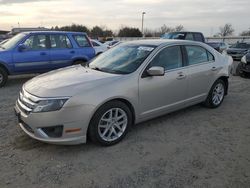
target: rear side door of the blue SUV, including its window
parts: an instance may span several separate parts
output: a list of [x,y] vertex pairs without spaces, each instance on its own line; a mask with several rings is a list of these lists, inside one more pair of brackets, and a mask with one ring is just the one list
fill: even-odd
[[51,34],[50,39],[50,66],[57,69],[72,65],[76,51],[66,34]]

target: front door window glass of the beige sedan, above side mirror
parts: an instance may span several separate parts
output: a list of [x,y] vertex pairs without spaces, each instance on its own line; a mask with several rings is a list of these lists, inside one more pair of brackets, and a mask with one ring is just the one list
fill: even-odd
[[161,50],[151,61],[150,67],[160,66],[165,70],[182,67],[182,53],[180,46],[171,46]]

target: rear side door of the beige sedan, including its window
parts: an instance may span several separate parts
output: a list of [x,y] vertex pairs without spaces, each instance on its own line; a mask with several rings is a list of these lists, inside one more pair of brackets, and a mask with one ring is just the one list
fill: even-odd
[[185,46],[188,74],[188,101],[205,100],[219,67],[214,56],[205,48],[196,45]]

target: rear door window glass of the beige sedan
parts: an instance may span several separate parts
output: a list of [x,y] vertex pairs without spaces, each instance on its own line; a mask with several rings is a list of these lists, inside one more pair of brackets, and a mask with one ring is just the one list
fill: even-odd
[[207,50],[200,46],[186,46],[189,65],[208,62]]

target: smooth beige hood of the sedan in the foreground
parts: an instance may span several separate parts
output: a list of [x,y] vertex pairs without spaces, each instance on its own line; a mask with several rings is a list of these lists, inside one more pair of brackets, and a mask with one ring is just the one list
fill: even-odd
[[26,82],[25,91],[38,97],[74,96],[83,90],[100,87],[121,75],[85,68],[81,65],[51,71]]

